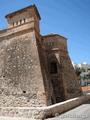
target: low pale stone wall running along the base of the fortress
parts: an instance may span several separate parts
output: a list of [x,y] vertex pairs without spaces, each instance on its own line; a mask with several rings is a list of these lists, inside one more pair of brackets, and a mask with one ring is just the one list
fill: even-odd
[[0,116],[44,119],[90,100],[90,93],[48,107],[0,107]]

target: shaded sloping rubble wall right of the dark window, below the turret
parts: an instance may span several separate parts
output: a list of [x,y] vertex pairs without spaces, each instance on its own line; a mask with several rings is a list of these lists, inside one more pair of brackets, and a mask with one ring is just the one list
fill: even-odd
[[60,53],[60,63],[65,90],[65,100],[82,95],[78,78],[67,53]]

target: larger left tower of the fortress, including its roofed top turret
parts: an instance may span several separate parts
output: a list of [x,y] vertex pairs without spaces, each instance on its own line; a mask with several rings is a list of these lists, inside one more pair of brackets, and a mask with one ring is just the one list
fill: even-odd
[[52,104],[52,86],[39,34],[41,18],[36,6],[31,5],[5,17],[8,28],[0,31],[1,106]]

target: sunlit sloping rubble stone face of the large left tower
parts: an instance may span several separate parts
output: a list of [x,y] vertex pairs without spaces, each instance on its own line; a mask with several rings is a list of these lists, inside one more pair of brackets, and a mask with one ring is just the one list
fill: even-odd
[[32,30],[0,42],[0,106],[46,105],[38,54]]

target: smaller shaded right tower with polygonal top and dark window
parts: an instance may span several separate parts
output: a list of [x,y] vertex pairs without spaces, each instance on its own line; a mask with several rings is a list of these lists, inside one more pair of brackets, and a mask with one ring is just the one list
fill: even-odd
[[82,94],[67,49],[67,38],[51,33],[43,36],[48,71],[56,103]]

